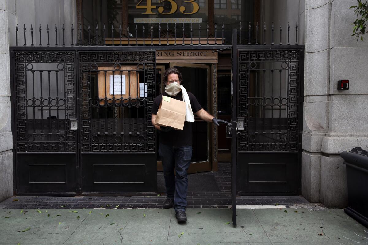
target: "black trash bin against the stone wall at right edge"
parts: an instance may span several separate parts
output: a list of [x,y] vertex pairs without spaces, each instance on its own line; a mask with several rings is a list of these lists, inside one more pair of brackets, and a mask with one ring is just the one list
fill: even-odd
[[349,206],[345,213],[368,227],[368,153],[360,147],[343,151]]

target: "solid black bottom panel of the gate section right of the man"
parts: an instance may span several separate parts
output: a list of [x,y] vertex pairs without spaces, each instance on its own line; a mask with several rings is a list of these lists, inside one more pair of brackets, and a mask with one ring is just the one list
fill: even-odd
[[299,194],[298,153],[238,153],[238,195]]

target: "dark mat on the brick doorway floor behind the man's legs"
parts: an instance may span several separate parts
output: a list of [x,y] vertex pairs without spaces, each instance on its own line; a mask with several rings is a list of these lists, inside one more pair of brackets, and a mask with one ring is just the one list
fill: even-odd
[[[157,174],[157,192],[166,192],[163,173]],[[220,192],[213,174],[188,174],[188,192]]]

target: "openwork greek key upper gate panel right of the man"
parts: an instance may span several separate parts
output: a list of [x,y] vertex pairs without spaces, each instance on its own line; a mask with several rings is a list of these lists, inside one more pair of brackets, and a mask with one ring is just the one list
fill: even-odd
[[238,151],[298,151],[299,50],[238,50]]

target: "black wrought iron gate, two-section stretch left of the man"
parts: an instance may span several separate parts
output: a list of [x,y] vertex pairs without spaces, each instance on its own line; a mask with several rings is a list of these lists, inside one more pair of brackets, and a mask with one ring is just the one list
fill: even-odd
[[110,49],[10,49],[18,195],[156,194],[155,50]]

